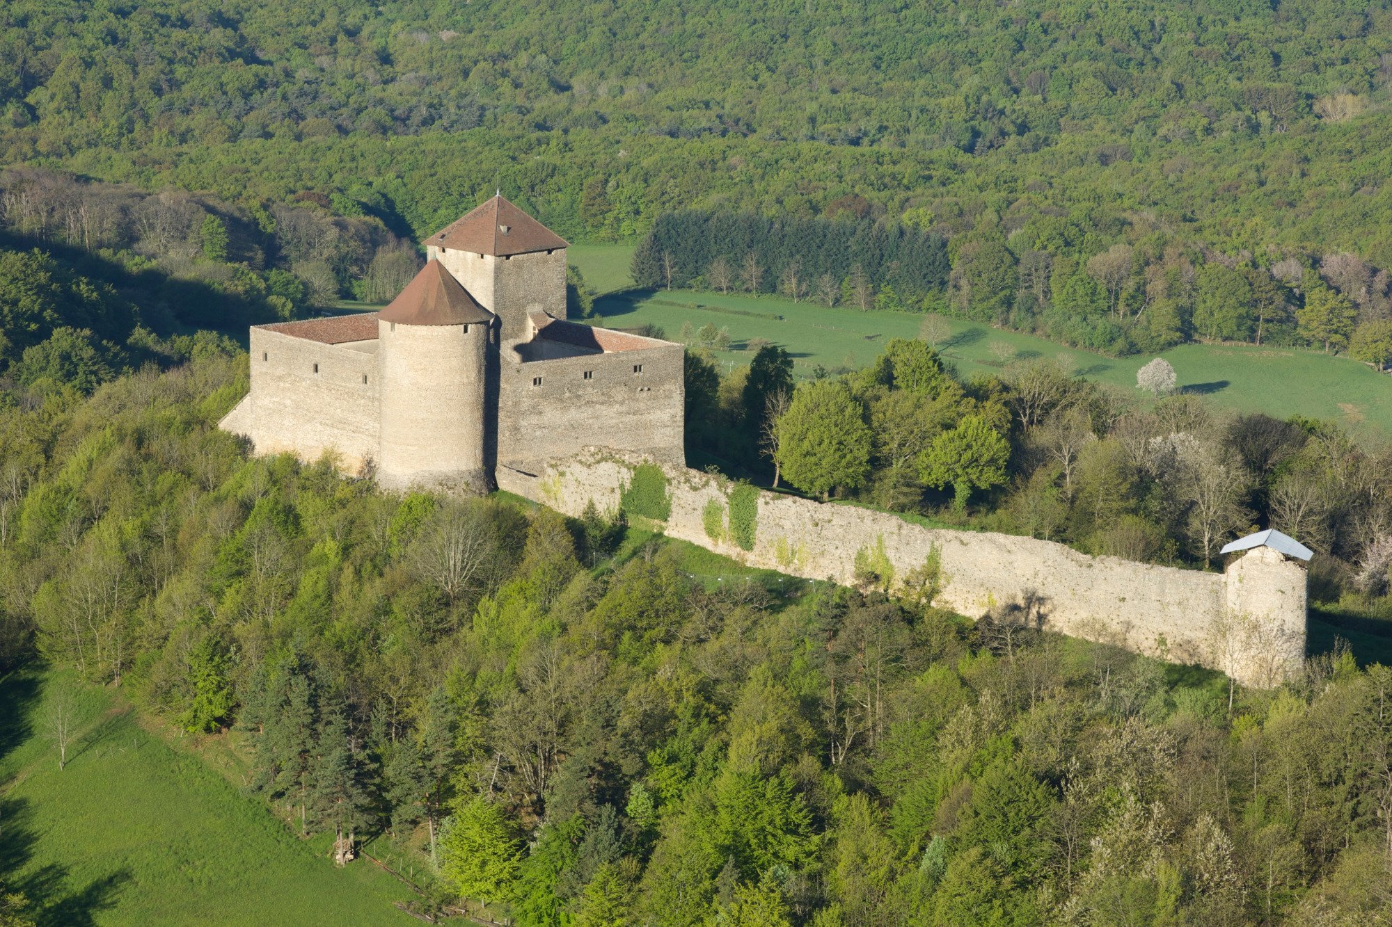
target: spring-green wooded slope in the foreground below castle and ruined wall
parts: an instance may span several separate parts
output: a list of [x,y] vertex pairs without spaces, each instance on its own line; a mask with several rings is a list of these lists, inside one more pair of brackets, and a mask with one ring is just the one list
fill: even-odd
[[[828,386],[851,391],[812,384]],[[226,351],[88,398],[38,390],[0,408],[6,664],[36,651],[164,724],[231,728],[249,788],[295,832],[345,855],[395,835],[418,871],[436,860],[423,912],[461,896],[518,924],[831,927],[1392,910],[1392,675],[1346,650],[1232,692],[1005,615],[969,625],[931,587],[789,586],[612,515],[381,496],[217,431],[245,390]]]

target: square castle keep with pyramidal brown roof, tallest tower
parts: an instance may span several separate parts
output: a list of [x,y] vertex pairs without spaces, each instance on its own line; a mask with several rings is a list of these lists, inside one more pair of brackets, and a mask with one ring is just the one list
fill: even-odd
[[565,249],[569,244],[497,195],[426,239],[438,260],[479,305],[503,320],[503,344],[530,337],[528,313],[565,319]]

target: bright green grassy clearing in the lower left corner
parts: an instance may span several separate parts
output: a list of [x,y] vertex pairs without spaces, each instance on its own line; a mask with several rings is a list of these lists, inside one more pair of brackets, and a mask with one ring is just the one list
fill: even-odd
[[[58,771],[45,721],[79,732]],[[214,740],[216,742],[216,740]],[[409,889],[367,862],[335,869],[198,756],[141,727],[117,692],[65,672],[0,679],[0,873],[40,924],[409,924]]]

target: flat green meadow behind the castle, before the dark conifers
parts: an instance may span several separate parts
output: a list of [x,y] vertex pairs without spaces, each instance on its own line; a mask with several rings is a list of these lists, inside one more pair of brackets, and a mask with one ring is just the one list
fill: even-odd
[[[572,263],[587,281],[592,267],[596,278],[614,281],[615,269],[626,266],[629,249],[590,245],[572,252]],[[707,323],[728,328],[731,349],[715,352],[727,369],[749,363],[752,354],[745,348],[750,338],[766,338],[792,354],[800,377],[812,376],[818,365],[862,367],[889,338],[915,337],[924,319],[917,313],[828,309],[778,296],[697,291],[611,292],[597,301],[596,309],[608,327],[656,324],[670,338],[678,338],[685,323],[692,330]],[[947,322],[951,335],[940,347],[963,377],[1001,373],[1011,363],[1033,358],[1062,356],[1093,380],[1133,390],[1136,370],[1153,356],[1107,358],[984,324]],[[1161,356],[1175,365],[1183,388],[1211,395],[1222,406],[1278,418],[1304,415],[1340,422],[1370,437],[1392,436],[1392,377],[1347,358],[1297,348],[1204,344],[1179,345]]]

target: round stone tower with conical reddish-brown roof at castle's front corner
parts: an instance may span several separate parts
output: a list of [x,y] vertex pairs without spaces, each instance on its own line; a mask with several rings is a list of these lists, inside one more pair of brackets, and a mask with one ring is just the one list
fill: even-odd
[[377,337],[379,484],[487,491],[487,370],[497,316],[432,260],[377,316]]

